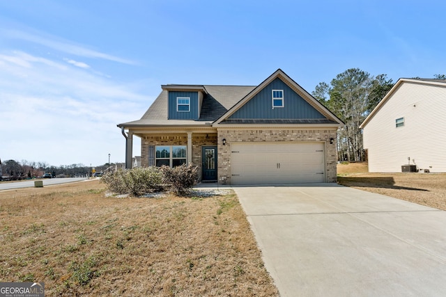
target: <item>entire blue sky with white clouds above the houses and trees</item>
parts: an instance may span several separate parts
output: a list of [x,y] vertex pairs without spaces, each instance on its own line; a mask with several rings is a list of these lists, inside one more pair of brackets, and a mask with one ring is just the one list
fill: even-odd
[[[0,159],[124,162],[168,83],[446,74],[445,1],[0,0]],[[141,141],[134,136],[133,155]]]

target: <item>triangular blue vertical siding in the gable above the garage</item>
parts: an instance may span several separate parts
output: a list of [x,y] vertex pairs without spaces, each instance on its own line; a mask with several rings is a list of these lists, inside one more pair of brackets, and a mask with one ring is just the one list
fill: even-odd
[[[284,107],[272,109],[272,90],[284,90]],[[277,78],[246,102],[229,119],[325,119],[305,99]]]

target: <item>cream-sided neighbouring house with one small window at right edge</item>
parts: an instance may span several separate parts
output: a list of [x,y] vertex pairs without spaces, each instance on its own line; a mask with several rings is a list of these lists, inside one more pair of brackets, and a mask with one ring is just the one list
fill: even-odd
[[369,172],[446,172],[445,127],[446,81],[399,79],[360,126]]

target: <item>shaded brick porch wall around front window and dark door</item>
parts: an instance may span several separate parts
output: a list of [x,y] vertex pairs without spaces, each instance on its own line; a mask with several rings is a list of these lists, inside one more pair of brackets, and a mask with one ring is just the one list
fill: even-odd
[[[144,136],[141,140],[141,166],[148,166],[149,145],[187,145],[187,134]],[[199,166],[201,178],[201,147],[203,145],[217,145],[217,134],[192,134],[192,163]]]

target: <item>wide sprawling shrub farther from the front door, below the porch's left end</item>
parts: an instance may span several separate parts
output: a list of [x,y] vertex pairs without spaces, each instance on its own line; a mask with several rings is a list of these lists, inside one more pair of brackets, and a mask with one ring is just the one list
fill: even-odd
[[115,193],[139,196],[161,191],[163,175],[160,168],[154,166],[137,167],[106,173],[101,182],[107,184],[109,190]]

